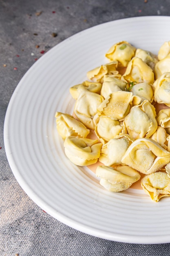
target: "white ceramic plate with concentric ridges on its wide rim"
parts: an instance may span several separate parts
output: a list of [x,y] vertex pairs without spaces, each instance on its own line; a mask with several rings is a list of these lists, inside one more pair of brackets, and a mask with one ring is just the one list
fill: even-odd
[[4,123],[11,169],[29,197],[66,225],[126,243],[170,242],[170,198],[152,202],[142,190],[110,193],[88,168],[72,164],[55,127],[55,112],[72,113],[69,88],[108,62],[121,40],[153,53],[167,40],[170,17],[128,18],[82,31],[44,54],[18,84]]

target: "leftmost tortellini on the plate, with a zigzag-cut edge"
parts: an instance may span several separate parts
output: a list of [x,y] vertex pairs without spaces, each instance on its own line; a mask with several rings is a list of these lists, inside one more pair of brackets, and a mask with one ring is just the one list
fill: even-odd
[[86,128],[84,124],[77,121],[73,116],[69,114],[56,112],[55,118],[57,131],[63,139],[66,139],[68,136],[79,136],[86,138],[90,132],[90,130]]

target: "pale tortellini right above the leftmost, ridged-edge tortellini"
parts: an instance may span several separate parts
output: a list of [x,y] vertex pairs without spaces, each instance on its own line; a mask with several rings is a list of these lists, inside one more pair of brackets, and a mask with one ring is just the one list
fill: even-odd
[[97,114],[97,108],[104,100],[103,97],[97,93],[90,92],[83,86],[78,89],[79,97],[74,106],[74,113],[76,117],[89,129],[95,129],[95,122],[93,118]]

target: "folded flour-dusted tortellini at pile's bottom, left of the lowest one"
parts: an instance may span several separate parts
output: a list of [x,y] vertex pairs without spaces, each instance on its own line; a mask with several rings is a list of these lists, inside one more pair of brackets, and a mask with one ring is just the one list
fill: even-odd
[[98,166],[96,176],[100,177],[100,184],[109,191],[120,192],[130,188],[141,175],[129,166]]

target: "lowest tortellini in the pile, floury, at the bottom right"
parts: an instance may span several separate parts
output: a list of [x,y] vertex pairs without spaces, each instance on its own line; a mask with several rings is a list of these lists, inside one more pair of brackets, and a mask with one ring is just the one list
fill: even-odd
[[146,175],[141,179],[141,186],[155,202],[162,197],[170,196],[170,178],[167,173],[160,171]]

